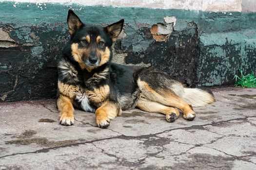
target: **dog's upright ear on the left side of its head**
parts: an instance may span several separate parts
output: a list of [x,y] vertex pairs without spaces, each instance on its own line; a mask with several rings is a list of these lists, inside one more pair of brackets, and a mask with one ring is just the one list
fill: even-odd
[[83,25],[79,17],[70,9],[68,11],[68,32],[69,34],[75,34]]

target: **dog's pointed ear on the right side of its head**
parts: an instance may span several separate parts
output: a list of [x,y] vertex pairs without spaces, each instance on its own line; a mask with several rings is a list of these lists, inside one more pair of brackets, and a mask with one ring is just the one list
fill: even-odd
[[118,22],[106,27],[107,33],[110,35],[113,42],[117,40],[118,35],[121,33],[123,28],[123,22],[124,19],[121,19]]

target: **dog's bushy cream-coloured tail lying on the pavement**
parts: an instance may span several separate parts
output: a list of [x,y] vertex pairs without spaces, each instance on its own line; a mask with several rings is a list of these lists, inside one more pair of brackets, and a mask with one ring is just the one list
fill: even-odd
[[191,104],[193,107],[204,106],[215,101],[211,92],[199,88],[185,88],[182,85],[173,85],[172,90],[183,101]]

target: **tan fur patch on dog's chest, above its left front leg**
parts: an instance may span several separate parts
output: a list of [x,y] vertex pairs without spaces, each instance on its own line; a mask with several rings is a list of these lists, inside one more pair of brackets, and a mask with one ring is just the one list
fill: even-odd
[[58,89],[61,94],[63,94],[64,96],[67,96],[71,100],[74,100],[80,91],[79,86],[68,85],[61,82],[58,82]]

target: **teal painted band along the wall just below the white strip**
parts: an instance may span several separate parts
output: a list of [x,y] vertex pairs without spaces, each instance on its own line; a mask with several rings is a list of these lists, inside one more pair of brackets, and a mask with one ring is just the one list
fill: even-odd
[[[65,23],[70,7],[87,23],[108,24],[124,18],[131,26],[153,25],[164,22],[166,16],[177,18],[175,29],[181,30],[186,23],[194,21],[202,33],[219,31],[237,31],[239,29],[255,28],[255,13],[240,12],[202,12],[179,9],[126,8],[112,6],[83,6],[79,4],[47,3],[47,8],[41,10],[35,3],[0,2],[0,19],[2,23],[10,23],[13,28],[24,26],[44,26],[49,23]],[[27,6],[28,5],[28,6]],[[93,17],[92,17],[93,16]],[[11,21],[11,22],[10,22]],[[47,23],[47,24],[46,24]],[[60,28],[59,28],[60,29]]]

